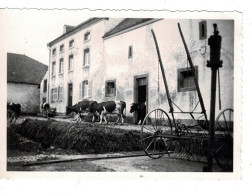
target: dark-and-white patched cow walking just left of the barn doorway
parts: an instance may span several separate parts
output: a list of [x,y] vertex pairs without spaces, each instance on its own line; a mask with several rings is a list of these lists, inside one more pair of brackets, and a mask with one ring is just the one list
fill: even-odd
[[126,110],[126,103],[124,101],[107,101],[107,102],[93,102],[89,106],[89,112],[93,113],[92,122],[94,122],[95,115],[100,117],[99,124],[102,123],[102,119],[108,124],[106,119],[107,114],[116,114],[118,119],[116,124],[121,118],[122,124],[124,123],[125,114],[123,114],[124,110]]

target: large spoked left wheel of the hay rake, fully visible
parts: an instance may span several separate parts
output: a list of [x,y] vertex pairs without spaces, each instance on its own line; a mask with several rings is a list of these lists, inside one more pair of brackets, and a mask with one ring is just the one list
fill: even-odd
[[141,127],[141,142],[144,152],[151,158],[161,158],[167,151],[163,136],[172,130],[171,120],[162,109],[149,112]]

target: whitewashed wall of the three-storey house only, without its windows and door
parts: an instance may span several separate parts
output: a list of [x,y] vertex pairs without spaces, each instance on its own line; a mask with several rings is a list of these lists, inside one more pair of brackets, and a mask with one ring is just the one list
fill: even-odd
[[[65,113],[68,102],[68,84],[73,84],[73,105],[83,99],[101,101],[102,99],[102,83],[105,71],[103,60],[103,38],[102,36],[108,29],[113,28],[122,19],[116,20],[100,20],[73,35],[68,36],[62,41],[50,47],[52,50],[56,48],[56,55],[50,57],[50,100],[51,89],[58,86],[63,86],[63,99],[62,101],[50,101],[51,107],[56,108],[58,113]],[[106,28],[105,28],[106,27]],[[89,41],[84,41],[84,34],[90,32],[91,38]],[[69,41],[74,40],[74,47],[69,48]],[[64,44],[65,50],[60,53],[60,45]],[[90,50],[90,66],[83,67],[84,63],[84,50]],[[69,56],[74,57],[73,71],[68,71]],[[59,61],[64,58],[64,72],[59,74]],[[52,76],[52,63],[56,62],[56,75]],[[82,81],[91,81],[91,96],[87,98],[79,98],[79,85]]]

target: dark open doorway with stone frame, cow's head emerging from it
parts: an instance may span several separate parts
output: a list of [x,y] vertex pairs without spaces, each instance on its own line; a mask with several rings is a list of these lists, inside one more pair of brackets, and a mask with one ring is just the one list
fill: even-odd
[[[138,75],[134,77],[134,103],[146,104],[145,115],[148,112],[148,74]],[[134,112],[134,124],[140,120],[137,112]]]

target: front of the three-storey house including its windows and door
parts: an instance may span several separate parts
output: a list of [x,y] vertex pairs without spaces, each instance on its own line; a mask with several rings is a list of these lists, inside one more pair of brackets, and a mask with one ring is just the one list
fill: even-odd
[[49,98],[59,114],[81,100],[100,100],[102,92],[93,89],[103,81],[102,37],[121,20],[91,18],[48,44]]

